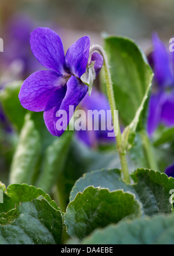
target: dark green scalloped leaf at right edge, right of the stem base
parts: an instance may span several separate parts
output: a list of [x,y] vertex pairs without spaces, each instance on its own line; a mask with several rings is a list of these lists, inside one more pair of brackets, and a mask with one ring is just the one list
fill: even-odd
[[174,189],[172,177],[158,171],[140,168],[132,174],[132,179],[135,182],[133,187],[139,195],[146,215],[171,212],[169,192]]

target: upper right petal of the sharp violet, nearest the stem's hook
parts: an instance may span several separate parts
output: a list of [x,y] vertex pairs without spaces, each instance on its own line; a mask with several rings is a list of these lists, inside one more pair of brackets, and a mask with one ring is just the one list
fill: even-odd
[[86,71],[90,48],[89,37],[82,37],[70,46],[66,54],[66,66],[71,74],[81,77]]

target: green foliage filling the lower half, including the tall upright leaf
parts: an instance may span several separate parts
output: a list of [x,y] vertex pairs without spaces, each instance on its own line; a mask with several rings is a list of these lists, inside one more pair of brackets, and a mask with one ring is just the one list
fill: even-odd
[[[20,105],[21,82],[11,83],[1,90],[0,101],[14,130],[6,139],[0,128],[0,153],[12,147],[9,183],[18,184],[6,189],[0,182],[0,244],[60,244],[68,235],[73,237],[70,243],[83,244],[174,243],[169,201],[174,179],[158,172],[155,162],[155,154],[159,170],[173,162],[173,127],[160,127],[153,140],[147,137],[153,73],[132,40],[113,36],[104,43],[115,103],[125,127],[121,154],[130,150],[131,184],[122,179],[115,145],[92,150],[79,143],[73,131],[52,136],[42,112],[29,112]],[[89,94],[93,64],[82,76]]]

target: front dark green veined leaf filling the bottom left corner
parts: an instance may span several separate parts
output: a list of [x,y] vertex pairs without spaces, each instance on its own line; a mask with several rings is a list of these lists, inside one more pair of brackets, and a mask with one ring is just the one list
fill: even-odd
[[61,212],[46,200],[16,205],[0,215],[0,244],[60,244]]

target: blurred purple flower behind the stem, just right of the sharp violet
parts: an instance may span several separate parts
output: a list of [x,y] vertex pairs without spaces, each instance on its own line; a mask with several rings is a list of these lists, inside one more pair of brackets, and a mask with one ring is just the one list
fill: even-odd
[[[77,138],[79,138],[79,140],[83,141],[83,143],[92,148],[96,148],[98,144],[112,143],[113,141],[115,142],[115,137],[108,137],[108,133],[113,133],[113,130],[107,129],[107,121],[111,125],[112,116],[111,112],[107,112],[110,110],[110,105],[108,103],[106,95],[93,88],[91,96],[89,97],[89,95],[86,94],[85,98],[81,101],[80,107],[86,112],[86,125],[88,123],[88,110],[97,110],[98,112],[104,110],[107,119],[102,120],[101,116],[99,115],[99,130],[94,129],[95,120],[90,120],[90,122],[93,124],[93,129],[88,130],[86,127],[86,130],[77,131]],[[104,125],[106,126],[106,129],[104,130],[101,129],[102,122],[105,122]]]

